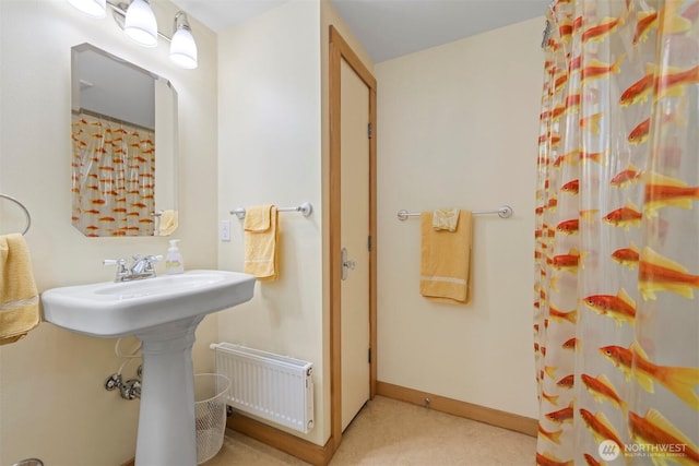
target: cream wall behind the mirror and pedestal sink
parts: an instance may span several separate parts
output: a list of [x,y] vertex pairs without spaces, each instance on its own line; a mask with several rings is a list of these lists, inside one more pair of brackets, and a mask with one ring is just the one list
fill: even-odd
[[[152,3],[170,34],[175,5]],[[132,44],[110,15],[93,20],[63,0],[0,1],[0,192],[32,213],[26,241],[39,290],[110,280],[115,272],[103,259],[167,249],[163,238],[88,239],[70,225],[70,48],[84,41],[173,82],[181,219],[174,237],[188,268],[216,267],[216,37],[190,22],[200,55],[194,71],[170,64],[164,40],[155,49]],[[216,318],[208,318],[198,331],[197,372],[211,369],[215,337]],[[139,402],[103,387],[121,363],[114,344],[43,323],[0,347],[0,464],[36,456],[51,466],[118,465],[133,457]]]

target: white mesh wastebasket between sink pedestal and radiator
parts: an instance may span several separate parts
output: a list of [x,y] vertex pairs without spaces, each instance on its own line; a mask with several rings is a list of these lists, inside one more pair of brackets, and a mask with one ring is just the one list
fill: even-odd
[[217,373],[194,374],[194,416],[197,419],[197,464],[213,458],[223,446],[226,430],[228,378]]

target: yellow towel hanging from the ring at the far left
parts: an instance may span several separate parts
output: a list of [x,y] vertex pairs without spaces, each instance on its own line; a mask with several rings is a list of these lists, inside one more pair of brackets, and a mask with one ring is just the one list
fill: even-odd
[[39,322],[39,294],[24,237],[0,236],[0,345],[25,337]]

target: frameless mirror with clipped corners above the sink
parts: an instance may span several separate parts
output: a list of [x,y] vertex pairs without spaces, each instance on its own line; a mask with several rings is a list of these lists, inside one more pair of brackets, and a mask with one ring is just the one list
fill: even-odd
[[177,227],[177,93],[90,44],[72,48],[72,224],[88,237]]

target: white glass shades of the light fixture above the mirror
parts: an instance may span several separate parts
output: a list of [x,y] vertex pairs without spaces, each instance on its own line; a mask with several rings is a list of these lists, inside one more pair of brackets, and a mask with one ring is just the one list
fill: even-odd
[[129,38],[144,47],[155,47],[157,37],[161,36],[170,43],[170,60],[175,64],[189,70],[197,68],[197,43],[192,36],[187,13],[183,11],[175,14],[173,37],[168,37],[157,31],[155,14],[149,0],[132,0],[131,3],[114,3],[111,0],[68,0],[68,2],[93,17],[104,17],[108,5],[112,10],[114,20]]

